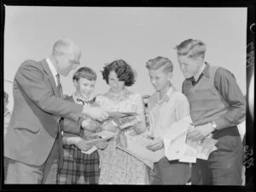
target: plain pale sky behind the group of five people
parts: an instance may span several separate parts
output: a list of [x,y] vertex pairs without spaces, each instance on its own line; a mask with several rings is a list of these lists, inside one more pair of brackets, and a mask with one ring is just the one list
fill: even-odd
[[[6,6],[4,25],[4,79],[13,81],[26,59],[42,60],[56,40],[73,39],[82,49],[80,66],[96,71],[95,94],[108,91],[102,67],[124,59],[137,71],[131,91],[154,93],[145,63],[156,56],[172,60],[173,85],[181,91],[183,75],[175,46],[188,38],[207,44],[205,60],[235,76],[246,93],[247,8],[103,8]],[[78,68],[77,68],[78,69]],[[72,71],[61,76],[64,93],[74,92]],[[12,83],[4,82],[13,107]]]

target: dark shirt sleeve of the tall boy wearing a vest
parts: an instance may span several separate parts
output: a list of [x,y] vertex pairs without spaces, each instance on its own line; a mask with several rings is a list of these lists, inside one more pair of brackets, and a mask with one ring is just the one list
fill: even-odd
[[229,104],[228,111],[224,116],[214,120],[218,129],[236,126],[244,121],[246,116],[246,100],[241,93],[235,76],[228,70],[219,67],[214,76],[214,86]]

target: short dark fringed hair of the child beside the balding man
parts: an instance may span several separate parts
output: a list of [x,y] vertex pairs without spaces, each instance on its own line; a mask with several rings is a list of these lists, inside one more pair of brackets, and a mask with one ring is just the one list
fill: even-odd
[[79,81],[80,78],[87,79],[89,81],[96,81],[96,72],[90,69],[90,67],[81,67],[73,74],[73,81]]

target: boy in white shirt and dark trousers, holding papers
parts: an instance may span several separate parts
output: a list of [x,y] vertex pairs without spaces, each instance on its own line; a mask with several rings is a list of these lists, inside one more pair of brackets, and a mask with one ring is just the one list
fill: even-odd
[[[172,85],[173,65],[170,59],[156,57],[146,63],[155,93],[148,99],[150,134],[154,138],[148,150],[164,150],[163,136],[173,123],[189,116],[189,101]],[[166,156],[149,170],[150,184],[186,184],[189,163],[169,161]]]

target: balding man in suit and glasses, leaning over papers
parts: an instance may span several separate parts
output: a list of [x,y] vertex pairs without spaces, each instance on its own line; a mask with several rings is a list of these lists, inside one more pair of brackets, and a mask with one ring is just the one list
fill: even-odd
[[55,184],[62,164],[61,117],[81,124],[73,133],[83,133],[84,115],[99,121],[108,118],[100,107],[61,99],[60,75],[79,65],[81,51],[69,39],[55,42],[52,54],[41,61],[26,60],[15,74],[14,110],[4,140],[9,158],[6,184]]

